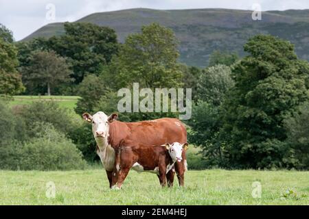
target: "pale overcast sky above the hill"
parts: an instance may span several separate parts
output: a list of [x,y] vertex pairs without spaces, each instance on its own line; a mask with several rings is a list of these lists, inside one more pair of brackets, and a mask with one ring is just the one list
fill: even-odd
[[[46,18],[49,3],[56,9],[54,20]],[[21,40],[47,23],[76,21],[94,12],[128,8],[252,10],[254,3],[260,3],[262,11],[309,9],[309,0],[0,0],[0,23],[13,31],[15,40]]]

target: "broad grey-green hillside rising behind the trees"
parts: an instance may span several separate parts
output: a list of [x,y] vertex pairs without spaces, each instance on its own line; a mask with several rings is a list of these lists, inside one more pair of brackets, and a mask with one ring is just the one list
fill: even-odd
[[[262,21],[253,21],[251,11],[226,9],[150,10],[137,8],[90,14],[76,22],[112,27],[120,42],[141,25],[160,23],[174,30],[181,41],[181,62],[206,66],[215,49],[237,51],[244,55],[243,44],[255,34],[273,34],[295,43],[299,57],[309,60],[309,10],[268,11]],[[24,40],[63,34],[62,23],[38,29]]]

